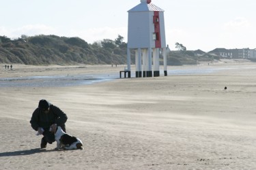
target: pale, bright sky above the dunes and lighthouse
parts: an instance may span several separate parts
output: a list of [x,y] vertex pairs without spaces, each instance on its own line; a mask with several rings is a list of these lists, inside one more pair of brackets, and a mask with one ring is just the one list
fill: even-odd
[[[80,37],[127,42],[128,10],[140,0],[0,0],[0,35]],[[152,0],[165,10],[166,42],[187,50],[256,48],[255,0]]]

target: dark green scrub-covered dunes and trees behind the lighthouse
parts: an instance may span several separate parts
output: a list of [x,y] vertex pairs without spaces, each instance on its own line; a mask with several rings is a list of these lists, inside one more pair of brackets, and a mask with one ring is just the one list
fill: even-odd
[[[216,58],[200,50],[188,51],[180,43],[177,51],[167,54],[167,65],[194,65],[198,61],[212,61]],[[131,52],[131,64],[135,62]],[[127,43],[124,37],[102,39],[93,44],[79,37],[57,35],[21,35],[17,39],[0,36],[0,63],[25,65],[126,65]],[[160,54],[160,65],[162,65]]]

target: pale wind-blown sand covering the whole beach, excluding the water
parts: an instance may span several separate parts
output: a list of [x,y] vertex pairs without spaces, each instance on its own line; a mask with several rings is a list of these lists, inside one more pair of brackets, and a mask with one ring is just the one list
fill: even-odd
[[[124,67],[14,65],[1,78],[109,73]],[[207,74],[117,79],[61,88],[0,88],[0,169],[255,169],[256,64],[168,69]],[[227,90],[224,87],[227,86]],[[85,150],[40,150],[29,120],[40,99],[68,115]]]

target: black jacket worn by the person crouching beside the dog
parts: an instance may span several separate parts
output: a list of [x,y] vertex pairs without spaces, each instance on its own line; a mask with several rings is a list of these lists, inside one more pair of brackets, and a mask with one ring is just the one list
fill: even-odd
[[50,111],[47,114],[39,107],[36,108],[32,114],[30,124],[35,131],[38,131],[38,127],[48,129],[52,124],[62,126],[67,120],[67,115],[59,107],[51,104]]

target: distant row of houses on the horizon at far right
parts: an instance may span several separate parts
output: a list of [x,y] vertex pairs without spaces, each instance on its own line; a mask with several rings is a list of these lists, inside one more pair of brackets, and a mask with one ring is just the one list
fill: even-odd
[[223,58],[256,58],[256,48],[251,50],[249,48],[242,49],[229,49],[226,48],[215,48],[208,52],[210,54],[216,54]]

